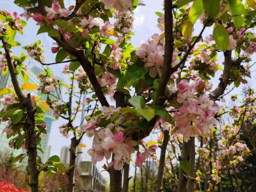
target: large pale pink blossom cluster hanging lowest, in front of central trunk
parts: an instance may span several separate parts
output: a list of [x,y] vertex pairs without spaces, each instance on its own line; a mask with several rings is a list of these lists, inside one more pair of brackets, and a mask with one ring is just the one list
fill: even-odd
[[106,127],[99,126],[100,120],[110,120],[111,116],[120,113],[121,108],[113,106],[104,106],[101,118],[91,118],[85,125],[81,127],[81,131],[87,132],[89,136],[93,136],[93,145],[88,154],[92,156],[92,163],[102,161],[104,157],[108,160],[113,154],[113,161],[108,166],[113,166],[115,170],[121,170],[123,163],[129,163],[131,154],[134,153],[136,141],[131,136],[124,135],[124,128],[121,126],[125,117],[120,114],[115,122],[110,122]]

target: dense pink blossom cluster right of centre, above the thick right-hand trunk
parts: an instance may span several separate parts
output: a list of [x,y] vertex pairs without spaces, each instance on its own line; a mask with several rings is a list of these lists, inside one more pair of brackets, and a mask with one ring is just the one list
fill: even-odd
[[[204,136],[209,129],[218,123],[214,118],[219,111],[218,104],[209,98],[209,95],[201,93],[196,95],[196,89],[202,81],[189,84],[186,79],[182,79],[178,84],[177,101],[182,104],[174,113],[173,120],[176,122],[178,132],[183,134],[184,141],[188,141],[191,136]],[[204,90],[201,88],[201,90]]]

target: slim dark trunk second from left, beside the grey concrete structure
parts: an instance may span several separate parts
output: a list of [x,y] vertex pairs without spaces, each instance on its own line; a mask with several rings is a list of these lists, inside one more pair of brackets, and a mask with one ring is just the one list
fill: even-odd
[[70,170],[67,173],[68,192],[75,191],[76,147],[77,147],[77,138],[76,136],[74,136],[74,138],[71,139],[71,145],[69,148],[69,152],[70,152],[69,166],[72,166],[72,168],[70,168]]

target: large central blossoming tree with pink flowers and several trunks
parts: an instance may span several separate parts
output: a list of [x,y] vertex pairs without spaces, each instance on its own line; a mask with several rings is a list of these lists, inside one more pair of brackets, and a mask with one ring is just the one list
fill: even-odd
[[[165,0],[164,13],[157,12],[161,34],[152,35],[138,48],[129,43],[132,11],[143,4],[138,0],[77,0],[69,8],[63,0],[15,3],[24,7],[22,16],[40,25],[38,33],[48,33],[56,42],[52,47],[56,65],[68,59],[69,70],[72,67],[75,71],[80,65],[83,68],[77,78],[88,78],[92,98],[101,104],[84,126],[84,131],[93,136],[88,152],[93,163],[109,160],[106,170],[110,190],[127,191],[131,154],[136,151],[136,166],[141,166],[157,148],[145,146],[141,140],[153,129],[161,129],[156,191],[161,191],[170,132],[182,136],[177,191],[194,191],[195,138],[207,138],[218,123],[219,106],[215,101],[227,87],[232,83],[238,87],[250,77],[247,65],[256,51],[251,30],[255,26],[255,3]],[[199,19],[202,24],[195,35],[193,29]],[[5,20],[1,26],[6,28]],[[212,30],[212,35],[203,37],[206,28]],[[8,49],[5,51],[8,53]],[[223,69],[219,55],[225,58]],[[218,71],[222,71],[220,81],[211,83]],[[52,89],[51,84],[45,84],[45,92]],[[110,99],[115,107],[109,104]]]

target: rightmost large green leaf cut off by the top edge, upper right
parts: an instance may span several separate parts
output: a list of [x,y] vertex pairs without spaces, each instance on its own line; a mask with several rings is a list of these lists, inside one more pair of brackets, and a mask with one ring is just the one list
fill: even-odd
[[230,12],[232,14],[234,25],[237,29],[244,24],[245,9],[240,0],[228,0]]

